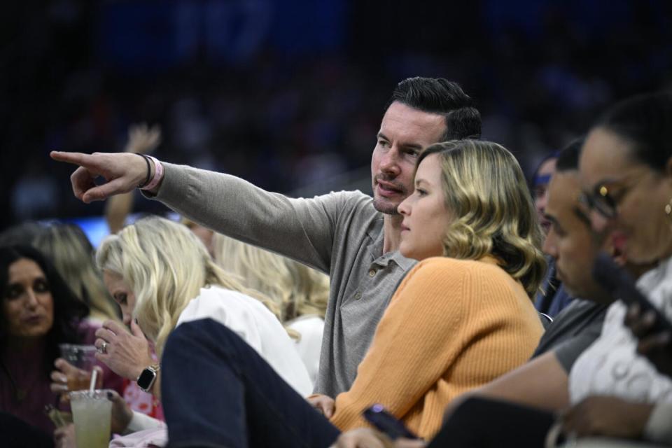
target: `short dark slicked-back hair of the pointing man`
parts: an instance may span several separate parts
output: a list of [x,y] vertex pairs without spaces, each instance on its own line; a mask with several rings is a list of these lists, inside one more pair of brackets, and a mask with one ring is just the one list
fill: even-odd
[[398,83],[386,110],[393,102],[445,117],[441,141],[481,137],[481,114],[458,83],[444,78],[407,78]]

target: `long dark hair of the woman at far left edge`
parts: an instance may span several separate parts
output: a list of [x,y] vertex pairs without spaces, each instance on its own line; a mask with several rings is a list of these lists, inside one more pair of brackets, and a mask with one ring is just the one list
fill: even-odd
[[[45,335],[43,366],[48,375],[59,356],[58,344],[78,344],[82,341],[80,322],[89,314],[89,308],[72,293],[51,262],[31,246],[0,247],[0,300],[7,297],[10,265],[22,258],[33,260],[42,269],[54,301],[54,324]],[[4,347],[8,340],[7,323],[6,316],[0,317],[0,347]]]

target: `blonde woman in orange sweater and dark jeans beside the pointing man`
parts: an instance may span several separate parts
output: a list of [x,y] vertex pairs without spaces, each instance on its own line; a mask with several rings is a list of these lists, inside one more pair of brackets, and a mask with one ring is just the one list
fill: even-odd
[[[223,325],[186,323],[163,359],[172,443],[326,447],[365,427],[362,412],[376,402],[428,438],[451,400],[528,360],[542,334],[531,297],[545,258],[517,161],[486,141],[435,144],[419,156],[414,186],[399,206],[400,252],[420,262],[392,297],[351,389],[311,398],[316,412]],[[204,394],[215,397],[206,407]]]

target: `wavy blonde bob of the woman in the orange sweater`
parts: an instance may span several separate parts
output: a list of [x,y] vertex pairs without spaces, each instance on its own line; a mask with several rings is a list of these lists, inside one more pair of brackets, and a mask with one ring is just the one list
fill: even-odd
[[447,257],[493,255],[533,297],[546,272],[542,231],[518,161],[489,141],[453,140],[428,146],[417,165],[436,154],[447,210],[454,218],[443,238]]

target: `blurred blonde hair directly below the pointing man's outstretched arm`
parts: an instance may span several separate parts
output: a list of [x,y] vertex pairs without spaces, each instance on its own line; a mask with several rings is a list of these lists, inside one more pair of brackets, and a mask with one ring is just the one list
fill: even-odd
[[283,321],[305,314],[324,318],[329,300],[329,277],[300,262],[216,233],[215,262],[235,274],[248,288],[274,298]]

